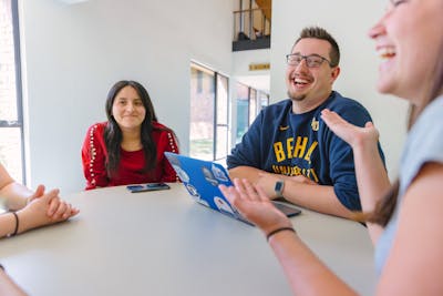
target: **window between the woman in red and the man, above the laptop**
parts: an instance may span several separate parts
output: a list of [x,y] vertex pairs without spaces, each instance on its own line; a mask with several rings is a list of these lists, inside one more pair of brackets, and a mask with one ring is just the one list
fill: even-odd
[[190,64],[192,157],[216,161],[229,147],[228,79],[196,63]]

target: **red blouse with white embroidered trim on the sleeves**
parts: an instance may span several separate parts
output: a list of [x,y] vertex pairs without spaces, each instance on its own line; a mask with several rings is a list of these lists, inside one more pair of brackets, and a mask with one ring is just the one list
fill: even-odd
[[[105,162],[107,150],[104,142],[106,122],[89,127],[82,147],[83,173],[86,178],[86,190],[117,186],[126,184],[178,182],[179,178],[164,155],[165,151],[178,153],[174,134],[163,124],[154,122],[154,142],[157,145],[157,163],[154,170],[142,173],[145,166],[143,150],[120,150],[120,165],[114,176],[110,177]],[[159,129],[159,130],[157,130]]]

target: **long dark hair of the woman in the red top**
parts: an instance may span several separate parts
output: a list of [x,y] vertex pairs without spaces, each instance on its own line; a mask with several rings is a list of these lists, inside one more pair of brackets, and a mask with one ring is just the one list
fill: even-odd
[[154,129],[153,122],[157,121],[157,116],[155,115],[150,94],[147,93],[146,89],[138,82],[132,80],[122,80],[116,82],[111,88],[110,92],[107,93],[105,106],[107,116],[107,124],[104,131],[104,141],[107,149],[107,160],[105,166],[107,174],[111,176],[117,171],[120,163],[120,150],[123,140],[122,130],[120,129],[119,123],[112,115],[112,106],[114,104],[115,96],[125,86],[132,86],[137,92],[146,110],[146,115],[144,121],[142,122],[140,135],[145,155],[145,166],[143,169],[143,172],[148,172],[153,170],[156,165],[157,147],[152,137],[152,131]]

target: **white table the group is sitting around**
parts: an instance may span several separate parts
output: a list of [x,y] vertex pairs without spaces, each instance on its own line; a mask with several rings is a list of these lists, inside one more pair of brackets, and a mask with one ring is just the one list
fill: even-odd
[[[124,186],[65,196],[68,223],[0,241],[0,262],[32,296],[291,295],[261,233],[195,203],[182,184],[131,194]],[[375,283],[365,228],[307,210],[302,239],[362,295]]]

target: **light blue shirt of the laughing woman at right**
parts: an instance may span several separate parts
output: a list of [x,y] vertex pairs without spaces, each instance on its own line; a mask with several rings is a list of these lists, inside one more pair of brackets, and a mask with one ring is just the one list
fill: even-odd
[[[426,162],[443,163],[443,95],[427,105],[411,129],[401,157],[399,200],[383,234],[375,246],[375,268],[380,276],[392,247],[398,213],[404,193]],[[426,202],[423,196],[423,203]]]

